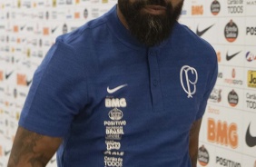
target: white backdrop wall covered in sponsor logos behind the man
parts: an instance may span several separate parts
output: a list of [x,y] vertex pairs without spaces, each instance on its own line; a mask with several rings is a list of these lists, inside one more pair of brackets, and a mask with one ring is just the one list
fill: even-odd
[[[34,70],[55,38],[115,4],[0,0],[0,167],[10,155]],[[185,0],[180,22],[211,43],[219,61],[202,121],[198,166],[256,167],[255,10],[256,0]],[[55,156],[47,166],[56,166]]]

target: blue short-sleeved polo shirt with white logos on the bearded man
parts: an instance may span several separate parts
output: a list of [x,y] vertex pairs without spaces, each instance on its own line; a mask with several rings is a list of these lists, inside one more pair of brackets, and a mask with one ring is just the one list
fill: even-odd
[[34,74],[19,125],[63,137],[61,167],[191,167],[189,132],[216,81],[212,46],[176,23],[148,48],[114,6],[57,38]]

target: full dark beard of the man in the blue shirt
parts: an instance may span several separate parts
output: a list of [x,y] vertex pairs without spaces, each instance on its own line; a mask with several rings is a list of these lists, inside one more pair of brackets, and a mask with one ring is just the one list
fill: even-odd
[[[136,0],[133,4],[129,0],[118,0],[119,8],[127,22],[130,33],[147,46],[161,44],[167,39],[172,27],[181,15],[183,1],[173,8],[165,0]],[[162,5],[166,7],[163,15],[151,15],[142,12],[145,5]]]

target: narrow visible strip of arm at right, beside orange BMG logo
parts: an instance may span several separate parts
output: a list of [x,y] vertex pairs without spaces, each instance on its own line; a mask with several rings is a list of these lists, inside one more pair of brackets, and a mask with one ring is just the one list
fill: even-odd
[[190,157],[192,161],[192,167],[196,167],[197,153],[198,153],[198,138],[201,127],[202,119],[192,123],[190,131]]

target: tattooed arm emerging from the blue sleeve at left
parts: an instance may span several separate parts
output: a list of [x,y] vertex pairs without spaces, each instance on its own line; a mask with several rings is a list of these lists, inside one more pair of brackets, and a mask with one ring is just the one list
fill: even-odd
[[18,127],[8,167],[44,167],[61,142],[61,138],[44,136]]

